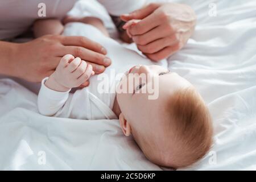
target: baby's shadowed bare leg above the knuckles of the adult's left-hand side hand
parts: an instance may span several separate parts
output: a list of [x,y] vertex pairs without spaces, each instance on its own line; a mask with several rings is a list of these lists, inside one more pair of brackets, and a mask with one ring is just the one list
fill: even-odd
[[64,30],[59,19],[38,19],[34,22],[33,28],[35,38],[44,35],[60,35]]

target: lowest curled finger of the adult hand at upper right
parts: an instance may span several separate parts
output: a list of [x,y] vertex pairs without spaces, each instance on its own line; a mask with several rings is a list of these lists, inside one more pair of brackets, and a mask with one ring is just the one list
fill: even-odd
[[162,50],[152,53],[152,54],[145,54],[149,59],[153,61],[160,61],[162,59],[166,59],[168,56],[173,55],[175,52],[177,52],[180,49],[180,44],[177,43],[174,46],[168,46],[166,48],[163,48]]

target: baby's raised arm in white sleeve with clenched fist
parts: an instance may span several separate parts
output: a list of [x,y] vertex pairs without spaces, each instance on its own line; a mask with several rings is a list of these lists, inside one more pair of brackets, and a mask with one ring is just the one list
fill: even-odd
[[80,86],[94,75],[92,66],[79,57],[65,55],[56,71],[42,81],[38,95],[38,109],[43,115],[52,116],[66,104],[71,88]]

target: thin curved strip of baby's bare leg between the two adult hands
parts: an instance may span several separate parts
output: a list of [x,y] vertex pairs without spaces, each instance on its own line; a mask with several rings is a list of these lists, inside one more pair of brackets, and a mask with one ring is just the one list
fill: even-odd
[[101,19],[95,18],[95,17],[82,17],[82,18],[77,18],[74,16],[67,16],[63,20],[64,24],[70,23],[70,22],[80,22],[80,23],[85,23],[85,24],[91,24],[92,26],[98,28],[104,34],[105,36],[109,36],[109,32],[104,26],[104,23],[102,22]]

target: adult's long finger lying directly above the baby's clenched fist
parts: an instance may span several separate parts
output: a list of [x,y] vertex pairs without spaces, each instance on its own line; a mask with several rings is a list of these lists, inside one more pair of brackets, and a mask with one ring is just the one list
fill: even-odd
[[81,59],[85,61],[90,61],[92,63],[104,65],[105,67],[108,67],[111,64],[111,60],[109,59],[109,57],[106,57],[100,53],[91,51],[84,47],[65,46],[63,51],[69,52],[75,57],[81,57]]

